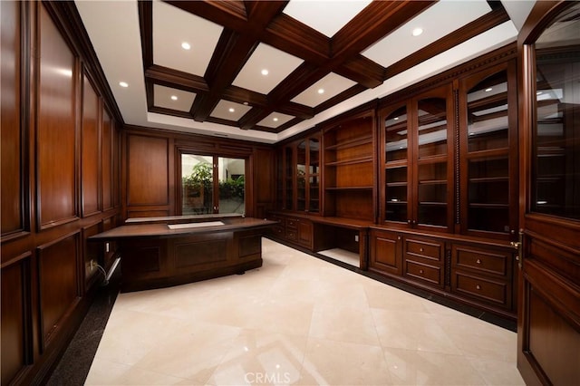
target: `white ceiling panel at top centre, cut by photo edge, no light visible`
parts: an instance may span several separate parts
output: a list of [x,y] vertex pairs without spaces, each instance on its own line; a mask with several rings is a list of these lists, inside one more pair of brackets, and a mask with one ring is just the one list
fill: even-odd
[[284,13],[328,37],[333,37],[369,4],[370,0],[291,0],[285,6]]

